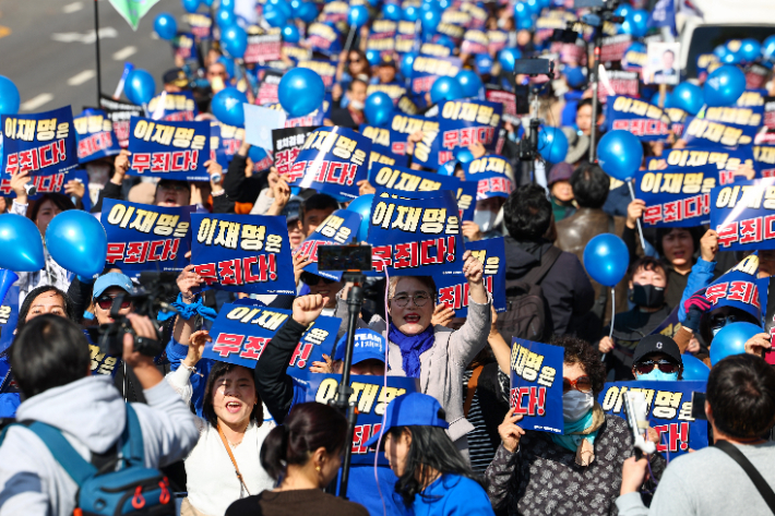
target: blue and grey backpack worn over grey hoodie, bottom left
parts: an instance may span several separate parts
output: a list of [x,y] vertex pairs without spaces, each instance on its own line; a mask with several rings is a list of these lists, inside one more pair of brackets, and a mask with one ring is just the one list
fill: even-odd
[[[127,404],[127,425],[116,446],[120,452],[112,459],[103,460],[99,469],[86,461],[58,429],[40,421],[9,425],[0,434],[0,444],[14,424],[35,432],[78,484],[74,516],[176,515],[169,481],[159,470],[144,466],[143,434],[130,404]],[[117,463],[123,463],[118,471],[114,470]]]

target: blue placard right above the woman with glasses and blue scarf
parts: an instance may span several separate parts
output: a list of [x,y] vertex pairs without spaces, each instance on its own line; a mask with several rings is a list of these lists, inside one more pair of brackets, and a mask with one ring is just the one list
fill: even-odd
[[390,276],[463,274],[460,212],[449,190],[420,200],[375,195],[367,241],[378,274],[385,267]]

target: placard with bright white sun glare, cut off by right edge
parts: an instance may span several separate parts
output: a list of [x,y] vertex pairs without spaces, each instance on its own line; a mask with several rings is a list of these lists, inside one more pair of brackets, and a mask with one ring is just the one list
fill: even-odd
[[713,189],[711,227],[723,251],[775,249],[775,179]]

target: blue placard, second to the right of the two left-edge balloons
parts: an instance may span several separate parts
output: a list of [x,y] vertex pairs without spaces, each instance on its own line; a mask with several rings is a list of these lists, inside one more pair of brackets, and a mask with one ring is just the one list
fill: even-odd
[[285,217],[192,214],[191,264],[207,287],[296,295]]

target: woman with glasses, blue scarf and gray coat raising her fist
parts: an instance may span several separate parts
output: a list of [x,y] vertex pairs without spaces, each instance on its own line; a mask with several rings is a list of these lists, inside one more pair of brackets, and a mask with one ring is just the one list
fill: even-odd
[[[474,430],[474,425],[463,412],[463,375],[474,357],[487,345],[492,301],[482,281],[481,262],[470,251],[465,252],[463,262],[463,274],[468,284],[468,317],[460,329],[431,324],[437,290],[430,276],[390,278],[390,322],[373,316],[368,327],[381,335],[388,333],[391,374],[420,380],[421,392],[438,399],[448,413],[450,437],[468,458],[466,434]],[[343,291],[336,308],[336,316],[343,321],[342,332],[347,327],[346,298]],[[367,325],[360,321],[359,327]]]

